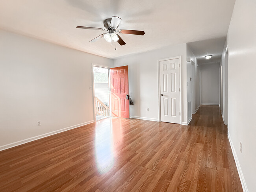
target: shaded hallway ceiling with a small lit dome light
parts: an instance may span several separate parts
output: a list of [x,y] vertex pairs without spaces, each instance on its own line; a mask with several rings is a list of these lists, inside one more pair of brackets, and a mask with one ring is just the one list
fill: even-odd
[[[198,63],[220,61],[226,37],[207,39],[203,41],[189,42],[188,46],[192,50]],[[206,59],[206,55],[212,55],[211,59]]]

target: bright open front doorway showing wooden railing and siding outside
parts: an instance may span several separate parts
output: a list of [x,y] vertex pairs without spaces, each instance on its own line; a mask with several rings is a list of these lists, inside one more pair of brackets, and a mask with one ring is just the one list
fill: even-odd
[[95,120],[111,116],[109,68],[93,66]]

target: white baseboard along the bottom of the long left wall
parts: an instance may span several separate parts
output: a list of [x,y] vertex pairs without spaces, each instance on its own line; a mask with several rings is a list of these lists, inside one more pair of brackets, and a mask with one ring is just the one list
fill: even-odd
[[59,129],[59,130],[56,130],[56,131],[49,132],[49,133],[45,133],[45,134],[42,134],[42,135],[38,135],[38,136],[35,136],[35,137],[30,137],[30,138],[26,138],[26,139],[23,139],[23,140],[20,140],[20,141],[9,143],[9,144],[0,146],[0,151],[6,150],[6,149],[9,149],[9,148],[18,146],[18,145],[22,145],[22,144],[25,144],[25,143],[28,143],[28,142],[31,142],[31,141],[34,141],[34,140],[37,140],[37,139],[40,139],[40,138],[48,137],[50,135],[55,135],[57,133],[68,131],[70,129],[75,129],[77,127],[82,127],[82,126],[85,126],[87,124],[94,123],[94,122],[95,122],[94,120],[91,120],[91,121],[88,121],[88,122],[85,122],[85,123],[77,124],[77,125],[74,125],[74,126],[70,126],[70,127],[66,127],[66,128],[63,128],[63,129]]

